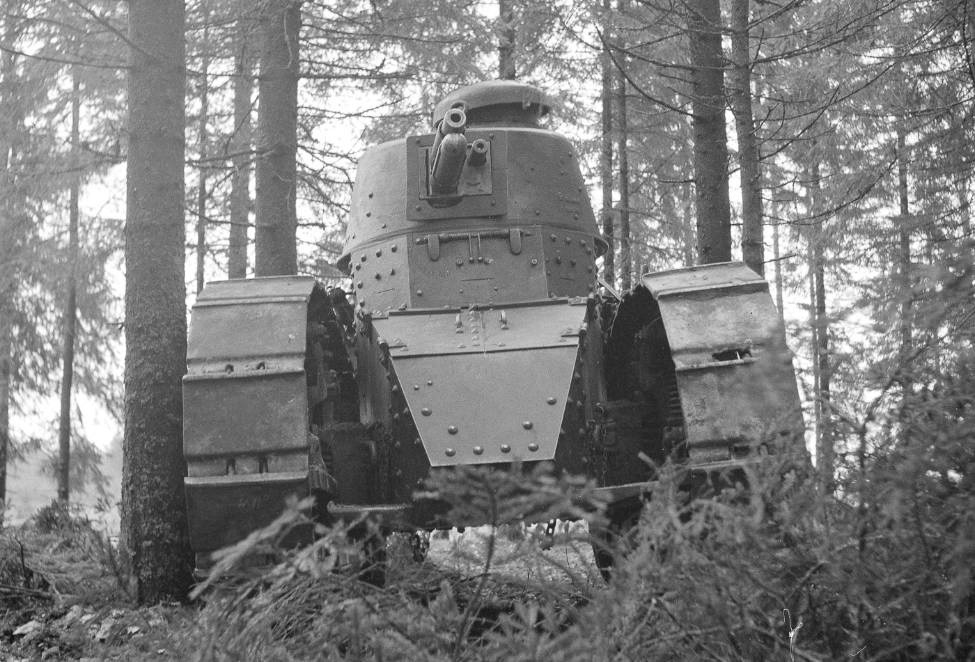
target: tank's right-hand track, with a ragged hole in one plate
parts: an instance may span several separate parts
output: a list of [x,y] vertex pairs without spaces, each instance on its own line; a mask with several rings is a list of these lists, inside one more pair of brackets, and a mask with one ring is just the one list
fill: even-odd
[[799,389],[768,283],[742,262],[643,276],[673,356],[692,464],[802,448]]

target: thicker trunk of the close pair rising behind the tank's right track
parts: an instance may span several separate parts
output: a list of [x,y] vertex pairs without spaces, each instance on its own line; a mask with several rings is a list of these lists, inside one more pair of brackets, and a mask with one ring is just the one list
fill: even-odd
[[719,0],[689,0],[687,3],[693,87],[697,256],[701,264],[731,259],[721,18]]

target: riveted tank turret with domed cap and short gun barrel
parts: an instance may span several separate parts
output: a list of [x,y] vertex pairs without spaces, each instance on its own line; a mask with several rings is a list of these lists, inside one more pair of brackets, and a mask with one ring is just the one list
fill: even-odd
[[537,88],[488,81],[437,104],[434,133],[363,155],[338,266],[369,311],[593,291],[600,235]]

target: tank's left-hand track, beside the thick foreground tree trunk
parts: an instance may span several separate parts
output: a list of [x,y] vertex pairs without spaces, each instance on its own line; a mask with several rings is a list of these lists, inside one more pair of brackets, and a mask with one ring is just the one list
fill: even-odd
[[[309,434],[309,405],[328,398],[311,361],[309,308],[328,305],[308,277],[212,283],[193,307],[183,377],[183,453],[190,544],[210,552],[273,522],[290,495],[333,480]],[[317,350],[316,350],[317,352]],[[320,354],[320,352],[318,352]],[[293,544],[311,539],[296,530]]]

